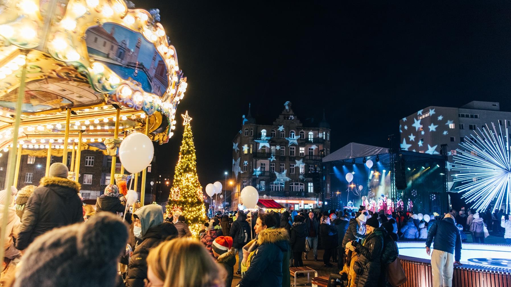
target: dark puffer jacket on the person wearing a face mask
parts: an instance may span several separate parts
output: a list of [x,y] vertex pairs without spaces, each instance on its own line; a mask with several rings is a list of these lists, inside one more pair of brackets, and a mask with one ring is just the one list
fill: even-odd
[[146,259],[149,250],[174,237],[177,237],[177,229],[169,222],[158,224],[147,230],[142,242],[135,246],[129,261],[126,287],[144,287],[144,279],[147,278]]

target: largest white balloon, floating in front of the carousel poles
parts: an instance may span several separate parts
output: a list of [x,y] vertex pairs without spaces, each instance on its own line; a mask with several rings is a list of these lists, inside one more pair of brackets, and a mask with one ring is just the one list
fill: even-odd
[[153,142],[143,133],[128,135],[119,147],[119,159],[124,168],[132,174],[140,173],[147,168],[153,156]]

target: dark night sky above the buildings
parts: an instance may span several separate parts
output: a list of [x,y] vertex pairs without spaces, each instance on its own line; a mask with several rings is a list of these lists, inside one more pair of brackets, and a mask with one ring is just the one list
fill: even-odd
[[[135,0],[158,8],[188,77],[201,184],[231,170],[232,139],[252,104],[261,124],[291,101],[300,119],[332,127],[332,151],[387,146],[399,119],[424,107],[498,101],[511,111],[511,4],[490,1]],[[181,144],[157,149],[173,174]],[[399,135],[398,135],[399,136]],[[398,138],[399,140],[399,138]],[[163,173],[165,174],[165,173]]]

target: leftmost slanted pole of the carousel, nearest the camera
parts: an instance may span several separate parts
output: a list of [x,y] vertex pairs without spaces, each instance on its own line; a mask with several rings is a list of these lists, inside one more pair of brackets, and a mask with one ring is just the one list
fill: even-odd
[[[27,54],[25,54],[26,56]],[[9,152],[8,159],[8,169],[6,174],[6,190],[11,190],[11,186],[14,183],[14,169],[16,168],[16,162],[14,161],[14,157],[17,152],[17,143],[18,143],[18,132],[19,132],[19,122],[21,118],[21,106],[23,104],[23,100],[25,99],[25,79],[27,77],[27,63],[25,63],[21,67],[21,76],[19,79],[19,88],[18,88],[18,101],[16,102],[16,116],[14,117],[14,129],[12,131],[12,149]],[[5,202],[11,202],[11,193],[6,193]],[[5,204],[2,210],[2,225],[0,227],[0,246],[5,246],[5,235],[7,230],[7,219],[9,212],[9,204]],[[0,258],[4,258],[5,248],[0,248]]]

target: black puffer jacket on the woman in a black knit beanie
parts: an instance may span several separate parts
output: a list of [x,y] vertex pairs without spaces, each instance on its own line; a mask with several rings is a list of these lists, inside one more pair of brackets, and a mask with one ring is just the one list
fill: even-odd
[[387,231],[383,227],[375,229],[367,235],[363,244],[356,244],[355,251],[359,254],[358,261],[364,268],[361,275],[357,275],[355,283],[357,287],[378,286],[381,268],[381,255],[383,251],[383,238]]

